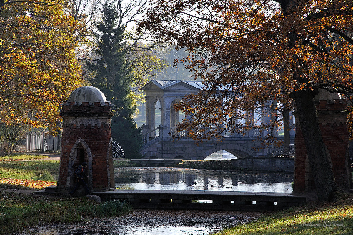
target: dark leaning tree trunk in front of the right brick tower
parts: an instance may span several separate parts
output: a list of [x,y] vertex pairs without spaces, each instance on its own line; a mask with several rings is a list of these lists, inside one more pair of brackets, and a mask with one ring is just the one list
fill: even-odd
[[330,156],[323,142],[312,91],[299,90],[293,92],[293,96],[318,199],[330,200],[339,188],[328,160]]

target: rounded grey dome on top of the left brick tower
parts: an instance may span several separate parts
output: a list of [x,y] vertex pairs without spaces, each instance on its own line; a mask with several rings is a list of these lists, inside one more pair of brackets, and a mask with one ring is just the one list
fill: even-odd
[[94,102],[100,102],[104,105],[107,102],[107,98],[96,87],[82,86],[71,92],[67,102],[75,102],[76,105],[82,105],[82,102],[88,102],[90,105],[94,105]]

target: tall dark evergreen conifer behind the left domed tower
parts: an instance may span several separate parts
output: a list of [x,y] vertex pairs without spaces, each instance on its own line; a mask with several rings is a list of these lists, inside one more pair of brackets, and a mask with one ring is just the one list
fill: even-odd
[[133,102],[131,85],[133,67],[126,60],[126,42],[123,42],[124,28],[116,27],[117,13],[113,2],[103,4],[102,22],[97,25],[97,49],[100,58],[93,63],[86,62],[86,69],[94,73],[89,79],[92,86],[100,89],[114,104],[112,110],[112,137],[124,149],[129,158],[140,156],[142,146],[141,129],[136,127],[132,115],[137,109]]

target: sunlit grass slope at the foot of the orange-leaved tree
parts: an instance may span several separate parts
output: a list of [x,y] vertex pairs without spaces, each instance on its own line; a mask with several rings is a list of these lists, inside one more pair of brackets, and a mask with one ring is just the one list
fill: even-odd
[[336,194],[334,202],[309,202],[301,207],[268,213],[262,218],[220,231],[217,235],[352,234],[353,195]]

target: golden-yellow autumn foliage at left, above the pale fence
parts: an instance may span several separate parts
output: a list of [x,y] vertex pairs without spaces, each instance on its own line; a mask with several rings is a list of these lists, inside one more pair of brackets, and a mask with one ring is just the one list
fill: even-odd
[[0,13],[0,119],[58,130],[58,104],[80,85],[73,32],[61,1],[7,1]]

